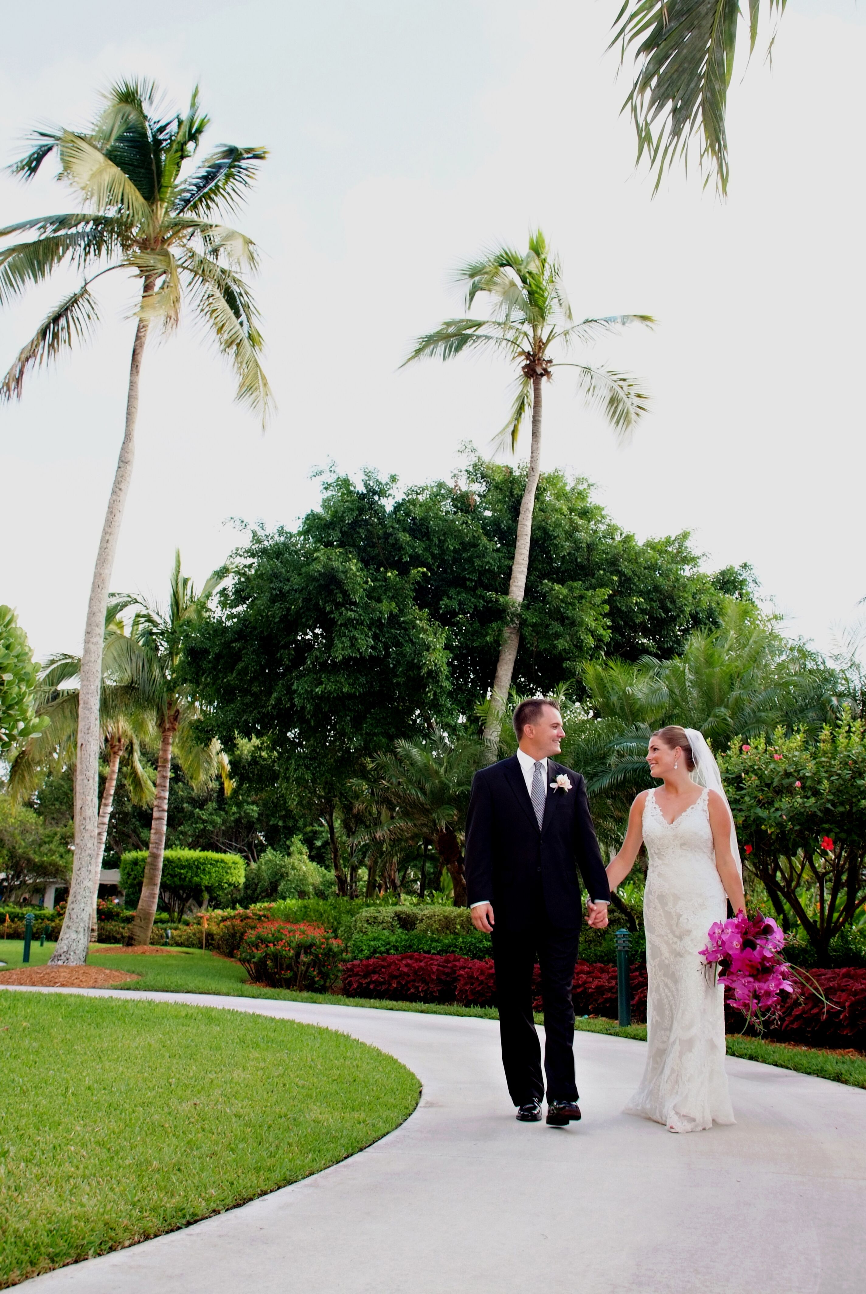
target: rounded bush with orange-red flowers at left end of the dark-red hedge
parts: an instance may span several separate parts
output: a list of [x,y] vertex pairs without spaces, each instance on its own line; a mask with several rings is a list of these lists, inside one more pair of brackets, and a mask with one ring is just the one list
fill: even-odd
[[309,921],[261,921],[243,936],[238,961],[255,983],[326,992],[337,978],[342,939]]

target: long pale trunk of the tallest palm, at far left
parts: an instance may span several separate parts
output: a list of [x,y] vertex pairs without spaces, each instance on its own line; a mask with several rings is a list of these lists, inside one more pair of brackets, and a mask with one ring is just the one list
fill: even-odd
[[[153,280],[145,280],[144,295],[153,291]],[[75,761],[75,861],[66,903],[66,916],[60,932],[52,965],[84,965],[91,938],[91,912],[93,892],[100,879],[98,796],[100,796],[100,691],[102,687],[102,642],[105,638],[105,608],[114,568],[114,555],[120,534],[123,509],[129,492],[135,459],[135,431],[139,417],[139,383],[141,358],[148,338],[148,321],[140,318],[132,345],[129,388],[127,392],[127,421],[123,444],[114,474],[109,507],[102,523],[96,568],[87,606],[84,647],[82,651],[82,677],[78,694],[78,752]]]

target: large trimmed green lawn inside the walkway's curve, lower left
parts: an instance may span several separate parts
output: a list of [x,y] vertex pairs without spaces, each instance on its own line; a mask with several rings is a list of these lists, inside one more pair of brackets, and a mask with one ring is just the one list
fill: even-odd
[[318,1172],[418,1101],[392,1056],[233,1011],[1,992],[0,1038],[0,1288]]

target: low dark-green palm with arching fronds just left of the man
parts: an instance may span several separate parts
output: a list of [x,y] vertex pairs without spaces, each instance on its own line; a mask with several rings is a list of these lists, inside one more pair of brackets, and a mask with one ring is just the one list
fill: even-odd
[[463,832],[479,744],[435,730],[426,740],[397,741],[370,761],[361,796],[386,810],[373,839],[384,846],[435,849],[453,884],[454,907],[466,906]]

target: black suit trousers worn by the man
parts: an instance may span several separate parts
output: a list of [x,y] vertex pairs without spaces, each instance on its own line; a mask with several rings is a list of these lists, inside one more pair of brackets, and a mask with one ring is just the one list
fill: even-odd
[[541,1046],[532,1018],[532,970],[541,968],[545,1049],[544,1069],[549,1101],[576,1101],[575,1087],[575,1008],[571,986],[575,978],[580,930],[553,927],[536,905],[527,930],[493,929],[496,1002],[500,1009],[502,1065],[509,1093],[515,1105],[540,1101],[545,1086],[541,1078]]

